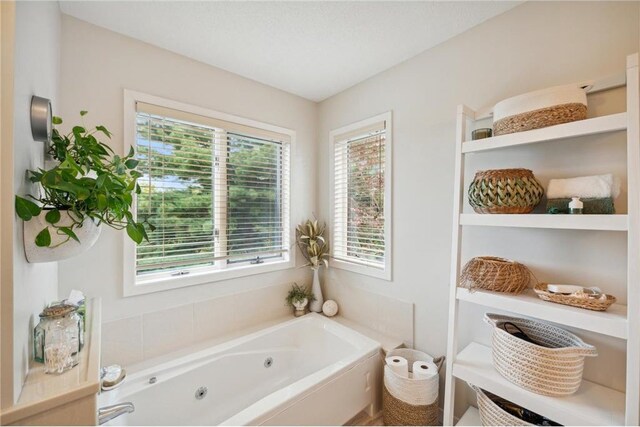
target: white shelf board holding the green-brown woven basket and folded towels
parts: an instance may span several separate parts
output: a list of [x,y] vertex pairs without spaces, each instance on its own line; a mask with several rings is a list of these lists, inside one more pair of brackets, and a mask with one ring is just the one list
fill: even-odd
[[627,231],[627,215],[460,214],[460,225]]

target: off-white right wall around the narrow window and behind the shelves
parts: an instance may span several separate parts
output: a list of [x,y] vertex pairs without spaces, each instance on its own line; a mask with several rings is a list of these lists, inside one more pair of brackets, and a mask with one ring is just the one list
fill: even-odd
[[[415,304],[415,344],[434,355],[446,351],[456,106],[493,105],[500,99],[552,85],[607,76],[625,69],[638,51],[638,3],[528,2],[491,19],[320,104],[318,202],[329,219],[329,132],[393,111],[393,280],[330,269],[329,288],[357,287]],[[619,91],[591,99],[591,113],[624,109]],[[528,167],[550,177],[624,172],[622,134],[611,138],[474,155],[476,169]],[[626,196],[618,201],[625,211]],[[626,240],[616,233],[471,230],[463,261],[475,255],[519,259],[540,280],[601,286],[625,300]],[[490,247],[473,242],[500,242]],[[597,246],[596,246],[597,245]],[[585,249],[591,247],[593,249]],[[466,340],[487,342],[483,310],[464,307],[473,321]],[[624,346],[586,336],[601,356],[586,376],[624,387]],[[463,340],[464,342],[464,340]]]

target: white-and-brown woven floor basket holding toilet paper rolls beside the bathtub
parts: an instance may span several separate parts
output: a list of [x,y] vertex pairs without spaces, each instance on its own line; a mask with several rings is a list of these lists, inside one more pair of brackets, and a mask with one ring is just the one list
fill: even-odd
[[[387,356],[401,356],[409,366],[417,360],[432,360],[438,370],[444,357],[432,358],[426,353],[408,348],[390,351]],[[434,392],[428,390],[430,380],[402,378],[385,366],[382,387],[382,417],[386,426],[436,426],[438,408],[438,382],[435,377]],[[410,400],[410,401],[408,401]]]

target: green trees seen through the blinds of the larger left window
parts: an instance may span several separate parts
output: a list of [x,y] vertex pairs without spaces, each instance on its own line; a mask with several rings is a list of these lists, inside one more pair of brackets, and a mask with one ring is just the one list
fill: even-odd
[[281,141],[141,112],[136,141],[137,212],[157,226],[138,274],[282,256]]

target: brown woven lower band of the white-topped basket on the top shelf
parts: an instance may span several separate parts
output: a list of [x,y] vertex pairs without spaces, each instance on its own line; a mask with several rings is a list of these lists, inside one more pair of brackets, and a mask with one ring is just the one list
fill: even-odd
[[587,118],[587,106],[568,103],[505,117],[493,124],[494,135],[539,129]]

